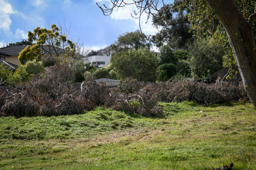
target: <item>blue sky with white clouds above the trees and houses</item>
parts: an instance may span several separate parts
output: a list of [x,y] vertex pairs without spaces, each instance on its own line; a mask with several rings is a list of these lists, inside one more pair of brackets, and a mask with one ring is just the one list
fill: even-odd
[[[0,47],[27,39],[28,31],[48,24],[66,24],[75,41],[79,38],[80,43],[94,50],[114,43],[125,32],[139,29],[139,20],[131,17],[134,6],[116,8],[110,16],[104,16],[96,2],[110,7],[110,0],[0,0]],[[146,18],[141,18],[142,31],[154,35],[157,29],[151,19],[145,24]]]

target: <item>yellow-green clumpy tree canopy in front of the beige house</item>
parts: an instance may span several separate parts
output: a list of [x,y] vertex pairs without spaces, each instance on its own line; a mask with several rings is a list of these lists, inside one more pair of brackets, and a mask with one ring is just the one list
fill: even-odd
[[28,31],[28,41],[36,42],[28,45],[18,56],[21,64],[26,61],[41,59],[42,53],[51,58],[67,57],[67,53],[75,54],[75,43],[65,35],[65,28],[58,28],[55,24],[49,29],[37,27],[34,32]]

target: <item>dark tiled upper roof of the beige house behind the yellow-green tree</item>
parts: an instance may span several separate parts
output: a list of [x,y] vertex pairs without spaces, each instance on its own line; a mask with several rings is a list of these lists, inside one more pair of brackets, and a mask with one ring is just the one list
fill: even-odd
[[[3,54],[4,56],[19,56],[20,52],[25,49],[28,45],[11,45],[7,47],[0,48],[0,55]],[[53,48],[50,48],[46,45],[44,45],[44,48],[47,51],[54,52]],[[63,49],[56,48],[57,52],[64,53]],[[71,54],[71,53],[68,53]]]

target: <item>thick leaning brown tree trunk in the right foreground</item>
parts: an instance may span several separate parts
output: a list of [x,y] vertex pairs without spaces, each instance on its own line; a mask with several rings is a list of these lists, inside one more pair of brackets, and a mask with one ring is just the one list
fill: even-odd
[[245,90],[256,109],[256,45],[252,26],[234,0],[207,0],[224,26]]

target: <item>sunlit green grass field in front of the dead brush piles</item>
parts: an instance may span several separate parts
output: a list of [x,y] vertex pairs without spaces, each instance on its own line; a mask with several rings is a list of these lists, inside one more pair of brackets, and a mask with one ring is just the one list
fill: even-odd
[[[252,104],[160,103],[165,118],[97,108],[0,118],[0,169],[256,170]],[[202,111],[202,112],[200,112]]]

